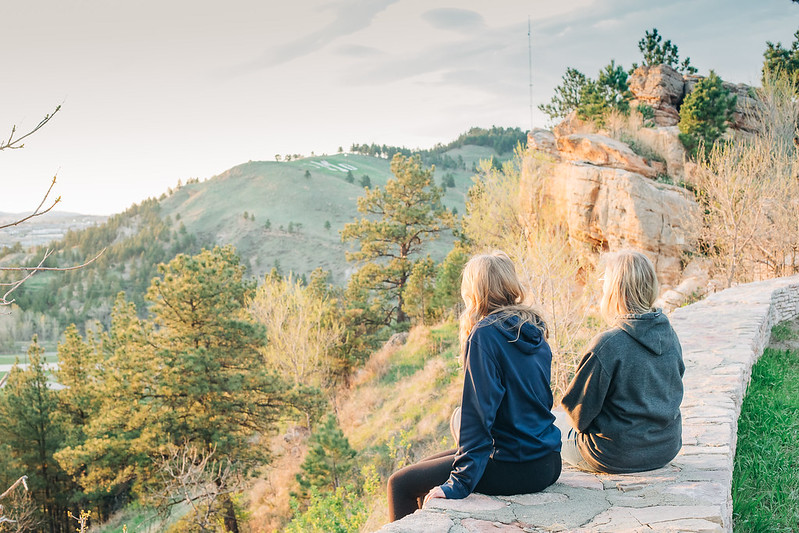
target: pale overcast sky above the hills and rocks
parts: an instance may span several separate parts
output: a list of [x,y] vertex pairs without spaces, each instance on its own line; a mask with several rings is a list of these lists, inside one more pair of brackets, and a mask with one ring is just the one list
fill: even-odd
[[[657,27],[706,74],[757,84],[789,46],[790,0],[0,0],[0,211],[112,214],[275,154],[353,142],[446,143],[470,126],[530,127],[567,66],[640,60]],[[535,126],[546,119],[537,110]]]

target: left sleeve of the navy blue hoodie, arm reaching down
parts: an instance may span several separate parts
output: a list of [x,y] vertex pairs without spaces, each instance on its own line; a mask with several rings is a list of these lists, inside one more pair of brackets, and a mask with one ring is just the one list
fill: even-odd
[[494,447],[491,428],[505,395],[502,372],[490,346],[481,343],[481,328],[469,340],[461,404],[458,453],[449,480],[441,485],[447,498],[465,498],[483,477]]

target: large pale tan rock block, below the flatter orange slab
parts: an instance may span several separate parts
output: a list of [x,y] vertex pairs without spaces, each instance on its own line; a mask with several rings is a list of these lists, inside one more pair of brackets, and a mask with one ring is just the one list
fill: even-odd
[[664,286],[676,284],[683,255],[696,249],[700,209],[691,193],[628,170],[556,163],[544,202],[577,246],[648,253]]

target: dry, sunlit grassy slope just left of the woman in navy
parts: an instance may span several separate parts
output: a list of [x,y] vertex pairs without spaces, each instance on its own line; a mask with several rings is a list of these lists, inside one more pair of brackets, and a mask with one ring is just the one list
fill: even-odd
[[[371,457],[383,481],[397,468],[454,446],[449,417],[463,385],[457,360],[457,324],[416,326],[405,344],[374,353],[339,398],[342,430],[362,462]],[[382,457],[382,461],[378,458]],[[371,502],[363,531],[388,521],[384,495]]]

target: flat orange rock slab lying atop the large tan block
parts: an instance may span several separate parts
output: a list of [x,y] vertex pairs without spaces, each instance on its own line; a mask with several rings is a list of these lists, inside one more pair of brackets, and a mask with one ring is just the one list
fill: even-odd
[[632,151],[621,141],[604,135],[573,133],[557,140],[561,159],[565,161],[584,161],[602,167],[629,170],[655,178],[659,168]]

